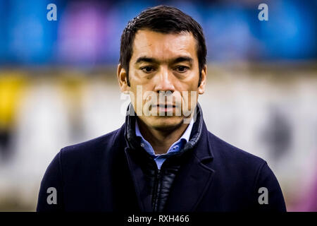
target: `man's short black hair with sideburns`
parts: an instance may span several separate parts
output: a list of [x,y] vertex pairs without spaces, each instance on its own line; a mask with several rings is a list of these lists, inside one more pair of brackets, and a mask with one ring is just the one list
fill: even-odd
[[127,82],[129,81],[129,64],[132,57],[132,46],[135,34],[138,30],[149,29],[162,33],[191,32],[197,41],[197,57],[199,61],[199,85],[201,83],[201,70],[206,65],[206,42],[201,25],[191,16],[180,11],[173,6],[155,6],[147,8],[138,16],[128,22],[123,30],[120,40],[119,62],[127,72]]

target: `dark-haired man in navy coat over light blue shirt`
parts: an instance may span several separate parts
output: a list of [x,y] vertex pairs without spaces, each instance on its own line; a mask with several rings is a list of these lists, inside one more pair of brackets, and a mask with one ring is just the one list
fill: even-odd
[[267,163],[206,129],[197,103],[206,44],[190,16],[156,6],[130,20],[118,81],[131,97],[125,124],[63,148],[42,180],[38,211],[286,210]]

